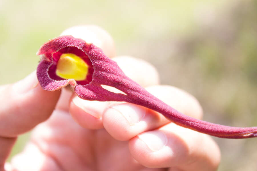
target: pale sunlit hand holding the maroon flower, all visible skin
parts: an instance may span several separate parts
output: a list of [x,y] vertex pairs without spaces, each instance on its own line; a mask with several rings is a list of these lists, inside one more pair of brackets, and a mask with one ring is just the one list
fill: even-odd
[[[93,42],[150,93],[186,115],[202,118],[198,101],[181,89],[160,85],[152,65],[115,57],[113,40],[103,29],[78,26],[63,34]],[[210,171],[220,162],[220,150],[208,135],[130,103],[85,101],[69,89],[45,91],[35,72],[0,86],[0,93],[0,171]],[[17,137],[31,129],[23,152],[6,163]]]

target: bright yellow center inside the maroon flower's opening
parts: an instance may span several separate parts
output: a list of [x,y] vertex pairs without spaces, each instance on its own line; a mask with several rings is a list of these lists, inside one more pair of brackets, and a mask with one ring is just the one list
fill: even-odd
[[79,56],[67,53],[62,54],[56,66],[56,75],[64,78],[81,81],[87,77],[88,65]]

